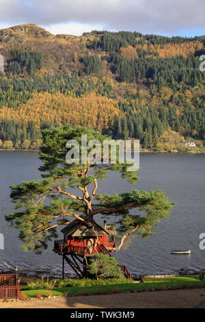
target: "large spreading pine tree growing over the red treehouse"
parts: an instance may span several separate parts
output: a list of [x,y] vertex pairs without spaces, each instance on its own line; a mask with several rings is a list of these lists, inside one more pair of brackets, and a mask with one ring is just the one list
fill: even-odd
[[[87,135],[87,142],[98,140],[101,145],[103,140],[111,140],[92,128],[64,126],[44,129],[40,148],[43,164],[39,169],[42,179],[11,186],[11,198],[16,203],[17,211],[8,214],[6,220],[19,230],[25,251],[40,252],[45,249],[47,242],[56,236],[56,228],[67,225],[73,217],[94,227],[92,223],[96,214],[117,216],[121,240],[120,245],[110,251],[120,250],[125,238],[131,234],[142,237],[152,234],[154,225],[160,219],[169,217],[174,203],[169,202],[161,190],[146,192],[134,189],[113,195],[97,193],[98,181],[105,179],[109,171],[118,171],[122,178],[135,183],[137,169],[128,171],[130,164],[120,164],[119,155],[115,164],[97,164],[95,160],[87,160],[84,164],[66,163],[69,151],[66,142],[77,140],[81,152],[82,134]],[[105,160],[103,158],[101,152],[100,161]],[[73,193],[70,188],[75,188],[77,192]]]

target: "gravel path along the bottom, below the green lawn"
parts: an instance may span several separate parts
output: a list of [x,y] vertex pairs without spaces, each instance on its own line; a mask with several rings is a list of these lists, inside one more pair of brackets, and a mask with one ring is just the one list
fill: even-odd
[[0,308],[193,308],[205,288],[0,302]]

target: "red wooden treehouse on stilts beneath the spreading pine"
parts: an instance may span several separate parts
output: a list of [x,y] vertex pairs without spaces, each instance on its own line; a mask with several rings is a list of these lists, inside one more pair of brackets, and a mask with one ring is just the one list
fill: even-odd
[[[62,277],[64,278],[64,262],[70,265],[79,277],[86,275],[89,258],[97,253],[112,256],[109,247],[115,247],[115,226],[101,227],[96,222],[87,225],[78,219],[72,221],[61,230],[64,239],[55,240],[53,251],[63,258]],[[126,278],[131,278],[126,266],[119,265]]]

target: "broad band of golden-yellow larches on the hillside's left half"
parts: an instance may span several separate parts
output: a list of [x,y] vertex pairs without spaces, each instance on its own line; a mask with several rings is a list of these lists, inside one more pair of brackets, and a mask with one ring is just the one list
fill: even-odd
[[42,124],[72,124],[96,129],[113,125],[115,115],[121,116],[118,103],[107,97],[91,94],[83,97],[68,97],[58,93],[36,93],[17,110],[3,106],[0,120],[23,121],[28,125],[33,120],[36,128]]

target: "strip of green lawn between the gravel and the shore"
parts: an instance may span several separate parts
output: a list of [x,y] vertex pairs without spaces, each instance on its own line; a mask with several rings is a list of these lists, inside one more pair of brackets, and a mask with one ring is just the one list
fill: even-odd
[[[183,277],[157,277],[150,278],[146,277],[142,283],[131,283],[131,284],[110,284],[102,286],[75,286],[75,287],[61,287],[52,288],[52,295],[85,295],[85,294],[96,294],[96,293],[120,293],[125,291],[135,290],[165,290],[167,288],[182,288],[182,287],[205,287],[205,280],[200,281],[199,275],[194,276],[183,276]],[[46,296],[48,290],[22,290],[27,297],[35,297],[36,294],[40,293],[42,296]]]

